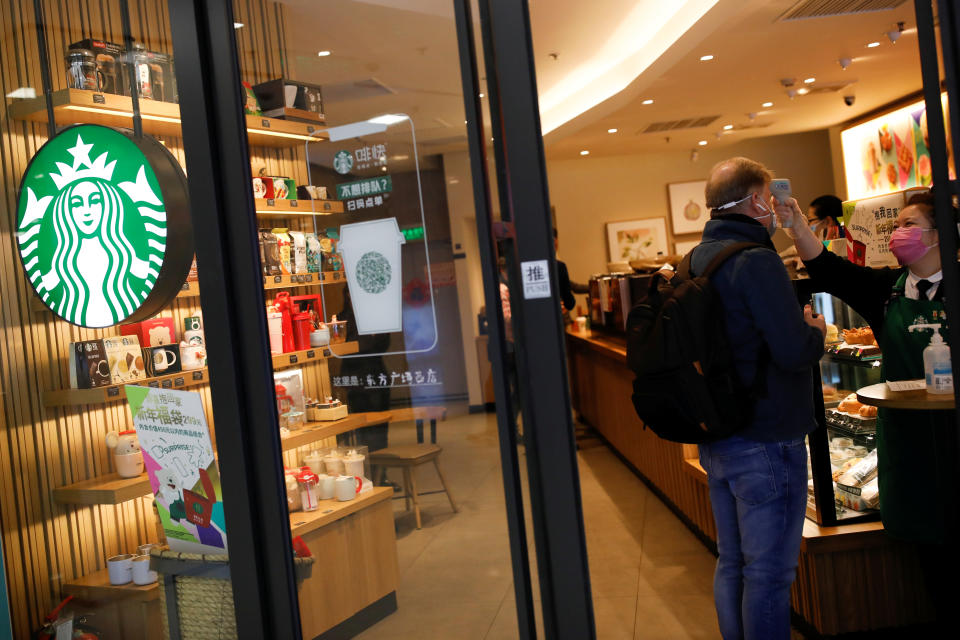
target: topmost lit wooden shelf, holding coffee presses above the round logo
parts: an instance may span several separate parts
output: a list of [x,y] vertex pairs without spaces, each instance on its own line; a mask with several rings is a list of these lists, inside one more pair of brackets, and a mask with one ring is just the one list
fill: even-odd
[[[133,126],[130,98],[82,89],[62,89],[53,93],[54,117],[59,125],[100,124],[109,127]],[[46,122],[46,100],[38,96],[17,100],[8,107],[15,120]],[[180,105],[157,100],[140,100],[140,117],[144,133],[155,136],[182,137]],[[326,140],[325,127],[277,118],[247,116],[250,144],[263,147],[295,147],[308,140]]]

